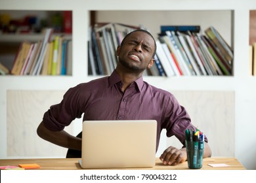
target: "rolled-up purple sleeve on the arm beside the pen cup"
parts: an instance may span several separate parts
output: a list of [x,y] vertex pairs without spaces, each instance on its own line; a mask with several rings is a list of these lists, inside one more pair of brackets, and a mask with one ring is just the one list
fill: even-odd
[[[170,95],[166,103],[165,113],[165,128],[167,137],[175,135],[177,139],[185,146],[185,131],[186,129],[193,129],[196,131],[196,127],[191,123],[190,116],[184,107],[182,107],[174,95]],[[205,142],[208,142],[205,136]]]

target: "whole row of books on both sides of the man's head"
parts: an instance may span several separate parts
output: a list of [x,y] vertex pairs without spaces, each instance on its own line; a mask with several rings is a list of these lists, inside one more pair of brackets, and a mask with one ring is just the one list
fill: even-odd
[[[110,75],[116,68],[116,48],[123,37],[140,27],[96,24],[89,40],[89,75]],[[155,64],[144,75],[232,75],[232,48],[214,27],[162,25],[156,39]]]

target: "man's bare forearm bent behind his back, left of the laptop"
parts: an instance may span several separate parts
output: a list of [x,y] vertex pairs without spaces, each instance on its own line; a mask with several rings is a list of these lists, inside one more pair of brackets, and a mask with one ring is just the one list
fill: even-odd
[[64,148],[71,148],[74,150],[81,150],[81,139],[74,137],[66,131],[51,131],[45,127],[43,122],[37,127],[37,135],[45,141],[52,142]]

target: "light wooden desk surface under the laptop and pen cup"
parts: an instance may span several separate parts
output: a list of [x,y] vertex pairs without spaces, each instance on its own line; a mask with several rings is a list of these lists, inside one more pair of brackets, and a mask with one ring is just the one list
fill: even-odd
[[[79,158],[47,158],[47,159],[0,159],[0,166],[18,166],[18,164],[37,163],[40,170],[75,170],[81,169]],[[229,167],[211,167],[208,164],[224,163]],[[129,168],[131,169],[131,168]],[[138,168],[136,168],[138,169]],[[143,170],[188,170],[188,162],[185,161],[176,166],[163,165],[159,158],[156,158],[156,165]],[[243,170],[244,166],[236,158],[204,158],[203,170]]]

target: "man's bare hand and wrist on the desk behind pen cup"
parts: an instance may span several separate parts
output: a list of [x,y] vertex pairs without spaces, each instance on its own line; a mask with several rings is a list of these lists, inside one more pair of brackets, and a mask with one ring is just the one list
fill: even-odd
[[[205,142],[203,149],[203,158],[211,157],[211,148],[207,142]],[[177,165],[186,161],[186,148],[175,148],[173,146],[169,146],[163,154],[160,156],[161,161],[163,161],[164,165]]]

